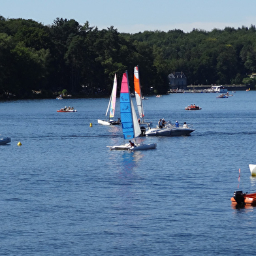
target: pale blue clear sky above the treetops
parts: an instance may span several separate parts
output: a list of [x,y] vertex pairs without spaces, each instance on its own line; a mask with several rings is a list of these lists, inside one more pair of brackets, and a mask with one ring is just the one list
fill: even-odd
[[0,0],[4,18],[51,25],[56,18],[120,33],[224,29],[256,25],[256,0]]

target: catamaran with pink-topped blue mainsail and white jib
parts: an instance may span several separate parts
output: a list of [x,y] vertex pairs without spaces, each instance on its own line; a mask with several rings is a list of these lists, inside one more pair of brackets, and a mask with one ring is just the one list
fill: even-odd
[[[133,106],[133,101],[131,100],[131,94],[129,91],[129,80],[127,71],[123,73],[123,78],[121,81],[121,91],[120,91],[120,114],[121,114],[121,126],[123,129],[123,138],[125,140],[131,140],[140,136],[140,125],[138,123],[135,107]],[[110,150],[151,150],[156,148],[157,144],[138,144],[135,142],[135,146],[126,143],[120,146],[109,147]]]

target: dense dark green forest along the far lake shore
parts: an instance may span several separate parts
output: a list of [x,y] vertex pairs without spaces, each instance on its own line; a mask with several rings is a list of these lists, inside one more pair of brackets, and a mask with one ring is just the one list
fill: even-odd
[[[52,25],[0,16],[0,97],[28,99],[109,95],[114,74],[133,82],[140,66],[145,95],[168,91],[167,76],[182,71],[187,84],[250,84],[255,87],[256,28],[179,29],[119,33],[76,20]],[[151,89],[153,88],[153,89]]]

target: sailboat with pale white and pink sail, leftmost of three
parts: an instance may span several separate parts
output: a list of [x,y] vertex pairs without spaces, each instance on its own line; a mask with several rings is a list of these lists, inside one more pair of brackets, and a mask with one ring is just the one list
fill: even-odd
[[111,119],[111,118],[114,119],[114,116],[115,116],[117,88],[118,88],[118,82],[117,82],[116,74],[115,74],[112,93],[111,93],[111,96],[110,96],[110,99],[109,99],[108,108],[106,108],[106,116],[108,115],[108,110],[110,109],[109,120],[106,121],[106,120],[99,120],[98,119],[98,123],[100,123],[101,125],[120,125],[121,124],[120,118],[118,118],[118,121],[114,121],[114,120]]

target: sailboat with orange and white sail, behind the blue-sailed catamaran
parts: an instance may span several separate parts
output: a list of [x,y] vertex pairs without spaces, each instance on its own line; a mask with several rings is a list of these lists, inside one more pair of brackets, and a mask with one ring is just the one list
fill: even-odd
[[150,126],[152,125],[151,122],[146,122],[144,121],[144,109],[143,109],[143,104],[142,104],[142,93],[141,93],[141,87],[140,87],[140,77],[138,75],[138,66],[135,67],[134,71],[134,85],[135,85],[135,98],[136,98],[136,103],[138,107],[138,116],[140,116],[140,126],[146,125]]

